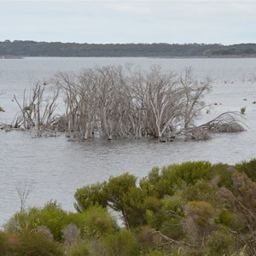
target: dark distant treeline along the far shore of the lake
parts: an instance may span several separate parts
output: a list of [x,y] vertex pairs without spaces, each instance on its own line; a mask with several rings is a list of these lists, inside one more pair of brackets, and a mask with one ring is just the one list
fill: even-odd
[[252,56],[256,44],[77,44],[61,42],[0,42],[0,56]]

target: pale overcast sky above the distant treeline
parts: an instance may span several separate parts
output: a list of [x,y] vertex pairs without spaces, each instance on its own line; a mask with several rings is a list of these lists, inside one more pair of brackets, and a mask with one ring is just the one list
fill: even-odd
[[256,43],[255,1],[2,1],[0,41]]

